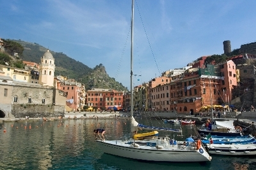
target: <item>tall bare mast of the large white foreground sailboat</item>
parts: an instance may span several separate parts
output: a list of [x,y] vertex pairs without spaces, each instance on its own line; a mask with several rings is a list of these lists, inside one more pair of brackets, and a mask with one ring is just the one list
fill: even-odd
[[132,0],[132,16],[131,16],[131,117],[133,116],[133,89],[132,89],[132,57],[133,57],[133,19],[134,19],[134,0]]

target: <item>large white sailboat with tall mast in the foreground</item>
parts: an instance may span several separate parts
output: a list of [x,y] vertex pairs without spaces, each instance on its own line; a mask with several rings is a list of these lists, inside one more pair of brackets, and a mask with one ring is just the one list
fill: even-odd
[[[132,53],[133,53],[133,19],[134,19],[134,0],[132,0],[131,17],[131,91],[132,91]],[[131,93],[131,132],[136,132],[138,128],[150,129],[154,131],[164,130],[165,132],[180,132],[180,130],[170,128],[147,127],[139,124],[133,117],[133,95]],[[140,134],[143,135],[143,134]],[[154,134],[151,134],[154,136]],[[148,135],[147,135],[148,136]],[[132,158],[136,160],[154,162],[209,162],[211,157],[198,143],[187,142],[186,144],[177,143],[169,137],[154,137],[151,139],[138,140],[132,137],[125,141],[105,141],[97,139],[96,142],[104,153],[116,155],[118,157]]]

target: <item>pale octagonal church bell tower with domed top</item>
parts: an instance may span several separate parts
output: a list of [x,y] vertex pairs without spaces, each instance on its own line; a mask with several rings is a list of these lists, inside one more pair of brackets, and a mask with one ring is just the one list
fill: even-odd
[[54,86],[54,58],[49,50],[44,53],[39,65],[39,83],[43,86]]

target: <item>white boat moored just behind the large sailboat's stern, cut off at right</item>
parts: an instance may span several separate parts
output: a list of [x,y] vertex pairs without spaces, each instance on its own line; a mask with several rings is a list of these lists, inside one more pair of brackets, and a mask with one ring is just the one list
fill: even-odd
[[216,155],[256,155],[255,144],[207,144],[206,150]]

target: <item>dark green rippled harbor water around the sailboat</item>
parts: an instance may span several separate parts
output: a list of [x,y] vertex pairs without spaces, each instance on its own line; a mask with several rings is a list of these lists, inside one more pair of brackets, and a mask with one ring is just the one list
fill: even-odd
[[[184,141],[195,134],[193,125],[138,120],[159,127],[182,128],[170,138]],[[0,169],[256,169],[255,157],[212,156],[211,162],[144,162],[103,153],[93,129],[104,128],[106,139],[129,139],[128,119],[19,121],[0,123]],[[159,135],[166,135],[159,132]]]

